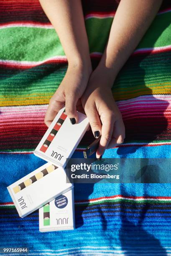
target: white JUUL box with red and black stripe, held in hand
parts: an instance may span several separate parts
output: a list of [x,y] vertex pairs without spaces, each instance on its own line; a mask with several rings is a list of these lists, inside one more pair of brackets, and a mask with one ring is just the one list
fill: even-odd
[[86,115],[78,113],[78,123],[71,124],[62,108],[41,139],[34,154],[57,166],[65,166],[89,127]]

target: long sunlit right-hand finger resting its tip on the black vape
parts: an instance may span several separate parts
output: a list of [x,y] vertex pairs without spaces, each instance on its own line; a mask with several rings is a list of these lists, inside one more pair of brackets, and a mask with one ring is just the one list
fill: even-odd
[[97,149],[96,157],[100,158],[104,153],[107,145],[109,144],[114,127],[114,115],[113,113],[108,113],[104,117],[101,118],[102,120],[102,137],[100,139],[99,147]]

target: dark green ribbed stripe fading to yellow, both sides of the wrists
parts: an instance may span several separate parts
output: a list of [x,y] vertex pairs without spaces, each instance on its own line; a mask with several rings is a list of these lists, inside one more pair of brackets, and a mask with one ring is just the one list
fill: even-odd
[[[155,58],[158,59],[156,65],[149,65]],[[134,90],[137,89],[140,89],[139,92],[145,90],[146,94],[151,94],[151,90],[157,86],[163,86],[164,93],[166,88],[171,88],[169,61],[168,53],[149,55],[145,59],[130,58],[115,80],[114,95],[124,93],[134,97]],[[55,64],[43,64],[18,73],[16,70],[9,71],[6,77],[3,72],[3,76],[0,74],[0,99],[4,97],[8,101],[18,95],[22,95],[18,101],[28,95],[33,98],[46,95],[50,98],[61,83],[66,69],[66,64],[61,68]]]

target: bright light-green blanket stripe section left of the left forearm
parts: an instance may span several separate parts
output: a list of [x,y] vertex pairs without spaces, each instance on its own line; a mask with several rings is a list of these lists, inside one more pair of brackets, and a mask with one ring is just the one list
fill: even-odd
[[3,28],[0,29],[0,38],[0,59],[43,61],[56,55],[64,55],[54,29]]

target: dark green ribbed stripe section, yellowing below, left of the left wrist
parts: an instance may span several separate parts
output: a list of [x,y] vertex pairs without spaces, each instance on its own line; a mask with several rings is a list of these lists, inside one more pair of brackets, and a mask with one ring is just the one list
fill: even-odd
[[[44,64],[32,68],[31,71],[25,70],[23,72],[7,74],[7,78],[1,79],[0,75],[0,98],[10,100],[11,96],[30,95],[32,97],[40,94],[51,97],[56,89],[59,87],[64,75],[66,73],[67,65],[59,68],[54,64]],[[32,75],[31,75],[32,74]],[[33,94],[33,95],[32,95]],[[8,96],[10,95],[10,98]],[[23,97],[18,100],[22,100]]]

